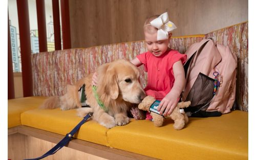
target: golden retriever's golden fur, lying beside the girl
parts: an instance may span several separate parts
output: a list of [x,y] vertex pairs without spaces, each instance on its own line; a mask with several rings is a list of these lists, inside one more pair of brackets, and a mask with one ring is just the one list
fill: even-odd
[[[119,59],[100,65],[97,73],[97,93],[108,112],[100,108],[94,97],[92,74],[77,81],[74,85],[67,86],[65,95],[48,98],[41,108],[60,107],[62,110],[78,108],[79,117],[84,117],[92,111],[93,119],[106,128],[129,123],[127,110],[130,109],[131,103],[139,104],[145,97],[145,92],[139,83],[138,68],[130,61]],[[86,84],[86,103],[91,108],[82,108],[79,103],[78,89],[83,84]]]

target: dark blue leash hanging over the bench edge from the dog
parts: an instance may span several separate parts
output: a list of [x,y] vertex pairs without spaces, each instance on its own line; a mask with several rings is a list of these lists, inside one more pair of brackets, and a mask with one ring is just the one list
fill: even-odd
[[58,144],[56,144],[56,146],[54,146],[52,149],[50,149],[48,152],[46,152],[44,155],[37,157],[37,158],[32,158],[32,159],[24,159],[24,160],[37,160],[37,159],[42,159],[44,157],[47,157],[48,155],[52,155],[54,153],[56,153],[58,150],[60,150],[62,147],[66,146],[70,140],[72,139],[73,135],[77,132],[77,130],[81,127],[81,125],[83,125],[84,123],[86,123],[86,121],[92,117],[93,113],[90,112],[88,113],[83,120],[78,123],[78,125],[75,126],[74,129],[71,130],[71,132],[69,132],[68,134],[66,134],[65,138],[63,138]]

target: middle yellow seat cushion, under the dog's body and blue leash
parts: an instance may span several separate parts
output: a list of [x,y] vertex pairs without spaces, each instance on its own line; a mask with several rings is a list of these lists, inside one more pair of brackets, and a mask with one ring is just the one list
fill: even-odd
[[[82,118],[76,116],[76,109],[33,109],[23,112],[22,124],[62,135],[69,133]],[[109,146],[106,129],[95,121],[88,121],[74,135],[75,138]]]

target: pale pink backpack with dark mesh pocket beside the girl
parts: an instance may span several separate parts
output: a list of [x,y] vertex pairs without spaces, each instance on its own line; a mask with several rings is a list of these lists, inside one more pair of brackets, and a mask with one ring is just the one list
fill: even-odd
[[236,55],[212,39],[192,44],[185,54],[182,100],[191,101],[187,115],[215,117],[230,112],[236,98]]

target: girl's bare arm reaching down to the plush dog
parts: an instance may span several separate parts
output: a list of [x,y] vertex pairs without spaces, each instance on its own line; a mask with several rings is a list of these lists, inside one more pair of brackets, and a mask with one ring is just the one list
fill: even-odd
[[170,115],[173,112],[186,83],[184,68],[180,60],[174,63],[173,71],[175,78],[174,86],[158,106],[158,111],[164,116]]

